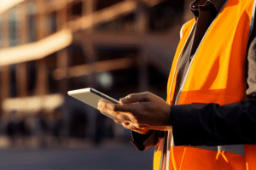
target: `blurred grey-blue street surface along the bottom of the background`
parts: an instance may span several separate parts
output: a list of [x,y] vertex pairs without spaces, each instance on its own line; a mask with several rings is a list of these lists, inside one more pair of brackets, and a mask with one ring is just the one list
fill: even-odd
[[[1,139],[4,144],[4,138]],[[70,139],[69,147],[0,150],[0,169],[152,169],[154,148],[106,140],[101,147]],[[3,146],[2,146],[3,147]]]

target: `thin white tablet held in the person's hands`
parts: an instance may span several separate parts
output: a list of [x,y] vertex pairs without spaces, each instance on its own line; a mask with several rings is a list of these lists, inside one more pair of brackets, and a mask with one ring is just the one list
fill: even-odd
[[[119,104],[118,100],[113,99],[106,94],[102,94],[101,92],[97,91],[94,88],[82,88],[78,90],[72,90],[72,91],[68,91],[67,94],[72,96],[75,99],[79,99],[80,101],[84,102],[87,105],[94,107],[95,109],[97,109],[100,99],[105,99],[115,104]],[[108,113],[102,113],[102,114],[112,118],[113,120],[124,122],[111,115],[108,115]]]

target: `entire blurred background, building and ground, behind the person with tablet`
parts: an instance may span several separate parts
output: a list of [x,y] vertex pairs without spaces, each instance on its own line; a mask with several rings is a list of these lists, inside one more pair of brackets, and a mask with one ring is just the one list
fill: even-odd
[[67,91],[166,99],[192,1],[0,0],[0,169],[152,169],[154,148]]

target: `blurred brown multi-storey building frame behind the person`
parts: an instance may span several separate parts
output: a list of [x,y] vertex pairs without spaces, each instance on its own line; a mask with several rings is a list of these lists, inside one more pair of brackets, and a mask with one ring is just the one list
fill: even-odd
[[191,17],[191,0],[2,2],[1,116],[61,106],[68,122],[82,108],[90,135],[96,117],[91,112],[96,111],[69,98],[68,90],[91,87],[115,99],[150,91],[166,98],[172,57],[179,30]]

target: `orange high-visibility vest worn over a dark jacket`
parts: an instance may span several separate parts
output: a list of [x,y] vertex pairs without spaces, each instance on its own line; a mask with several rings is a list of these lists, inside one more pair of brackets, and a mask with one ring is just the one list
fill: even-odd
[[[173,99],[177,65],[195,19],[183,26],[182,38],[173,59],[167,85],[167,103],[217,103],[227,105],[246,99],[245,63],[247,42],[253,30],[256,0],[227,0],[201,40],[189,65],[182,88]],[[206,113],[207,114],[207,113]],[[196,132],[195,132],[196,133]],[[175,138],[175,136],[174,136]],[[208,150],[171,146],[170,136],[154,152],[154,170],[159,169],[256,169],[256,145],[242,145],[244,154],[235,150]],[[225,147],[225,146],[224,146]],[[229,146],[227,146],[229,147]],[[162,148],[162,149],[160,149]],[[166,151],[167,150],[167,151]],[[165,161],[166,159],[166,161]],[[163,164],[163,161],[166,162]]]

